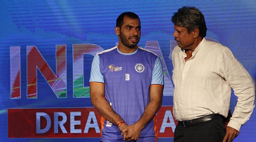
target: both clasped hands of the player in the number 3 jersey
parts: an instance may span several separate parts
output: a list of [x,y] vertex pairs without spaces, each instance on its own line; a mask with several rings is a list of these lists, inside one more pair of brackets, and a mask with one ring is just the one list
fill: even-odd
[[129,126],[125,123],[120,125],[118,128],[122,132],[121,135],[123,135],[123,140],[125,140],[126,142],[138,140],[140,137],[140,132],[143,129],[137,123]]

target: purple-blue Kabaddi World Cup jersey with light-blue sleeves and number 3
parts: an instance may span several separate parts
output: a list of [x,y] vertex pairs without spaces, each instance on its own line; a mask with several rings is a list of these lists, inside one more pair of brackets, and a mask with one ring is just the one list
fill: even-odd
[[[136,123],[149,103],[150,85],[164,85],[160,58],[153,52],[138,47],[124,54],[117,46],[98,52],[93,59],[90,83],[105,85],[105,98],[113,110],[127,123]],[[103,142],[123,141],[118,127],[101,119]],[[152,119],[141,131],[137,141],[155,141],[156,121]]]

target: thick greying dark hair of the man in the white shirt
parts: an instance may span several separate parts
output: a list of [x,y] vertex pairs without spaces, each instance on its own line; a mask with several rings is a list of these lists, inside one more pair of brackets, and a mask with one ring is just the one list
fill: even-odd
[[185,27],[188,29],[188,33],[196,28],[199,29],[199,35],[201,37],[206,36],[206,24],[203,13],[193,6],[183,6],[173,13],[172,23],[179,27]]

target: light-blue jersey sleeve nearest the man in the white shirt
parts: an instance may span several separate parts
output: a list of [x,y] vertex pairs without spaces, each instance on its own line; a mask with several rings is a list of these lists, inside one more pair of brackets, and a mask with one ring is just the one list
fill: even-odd
[[151,84],[164,85],[164,72],[160,58],[155,60],[154,69],[152,71]]

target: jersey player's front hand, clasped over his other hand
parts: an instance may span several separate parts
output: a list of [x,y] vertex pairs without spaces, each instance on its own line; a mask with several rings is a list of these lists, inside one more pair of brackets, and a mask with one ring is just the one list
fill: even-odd
[[141,127],[138,124],[133,124],[127,126],[125,129],[122,130],[122,135],[127,132],[126,135],[126,142],[132,141],[132,140],[138,140],[140,137]]

